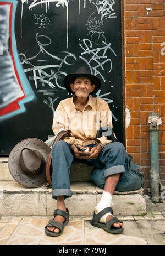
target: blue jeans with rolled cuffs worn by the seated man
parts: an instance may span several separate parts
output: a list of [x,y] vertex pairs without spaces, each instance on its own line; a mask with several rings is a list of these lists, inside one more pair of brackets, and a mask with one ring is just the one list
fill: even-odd
[[[95,144],[90,145],[96,147]],[[108,143],[97,159],[77,159],[67,142],[62,140],[56,142],[52,148],[52,198],[57,199],[57,196],[62,195],[64,198],[72,197],[69,174],[73,161],[94,166],[92,180],[97,186],[102,187],[108,176],[125,172],[125,148],[120,142]]]

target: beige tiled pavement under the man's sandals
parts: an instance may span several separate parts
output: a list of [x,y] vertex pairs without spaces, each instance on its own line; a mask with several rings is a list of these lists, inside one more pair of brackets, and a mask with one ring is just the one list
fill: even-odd
[[145,216],[117,216],[122,234],[91,226],[85,217],[70,217],[59,237],[48,237],[44,227],[52,216],[1,216],[0,245],[165,245],[165,200],[153,204],[146,197]]

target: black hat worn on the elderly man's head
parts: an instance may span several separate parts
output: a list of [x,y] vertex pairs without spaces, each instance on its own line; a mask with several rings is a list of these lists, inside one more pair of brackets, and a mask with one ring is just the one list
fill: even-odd
[[92,82],[92,85],[95,85],[95,89],[94,91],[90,92],[90,94],[93,94],[95,92],[97,92],[100,87],[101,87],[101,81],[100,79],[98,79],[97,76],[95,75],[92,75],[91,72],[90,72],[90,69],[89,67],[80,67],[78,69],[78,71],[76,71],[76,73],[74,74],[69,74],[67,76],[65,76],[64,78],[64,86],[65,88],[70,92],[70,93],[73,93],[74,92],[72,91],[72,89],[70,88],[70,83],[73,83],[75,81],[75,79],[79,76],[85,76],[85,77],[88,77],[91,82]]

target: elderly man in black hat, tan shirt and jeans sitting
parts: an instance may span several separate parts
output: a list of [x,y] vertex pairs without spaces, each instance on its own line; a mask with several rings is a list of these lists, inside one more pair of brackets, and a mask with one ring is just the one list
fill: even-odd
[[[122,143],[112,143],[105,136],[96,139],[101,126],[112,127],[112,114],[107,102],[90,96],[101,87],[101,81],[91,75],[86,67],[81,67],[75,74],[65,77],[64,86],[73,93],[73,97],[59,103],[54,112],[52,128],[55,135],[67,130],[72,136],[56,142],[52,148],[52,198],[57,200],[57,209],[54,219],[45,227],[45,233],[59,236],[69,221],[65,198],[72,197],[69,173],[73,161],[95,166],[92,180],[96,185],[104,185],[91,224],[109,233],[121,233],[123,224],[113,217],[111,206],[120,174],[125,172],[125,148]],[[80,150],[87,147],[90,147],[89,154],[81,155]]]

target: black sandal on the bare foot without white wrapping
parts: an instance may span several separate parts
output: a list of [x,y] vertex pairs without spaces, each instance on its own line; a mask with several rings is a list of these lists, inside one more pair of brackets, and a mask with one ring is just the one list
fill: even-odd
[[[60,209],[56,209],[54,211],[54,218],[56,217],[56,215],[61,215],[65,218],[65,221],[63,223],[59,222],[59,221],[55,221],[53,219],[49,220],[48,224],[45,226],[45,233],[47,234],[47,236],[50,237],[58,237],[61,236],[61,234],[63,233],[63,229],[65,227],[65,225],[69,222],[69,210],[66,208],[66,212]],[[54,233],[50,230],[47,229],[47,227],[56,227],[59,228],[60,232],[59,233]]]

